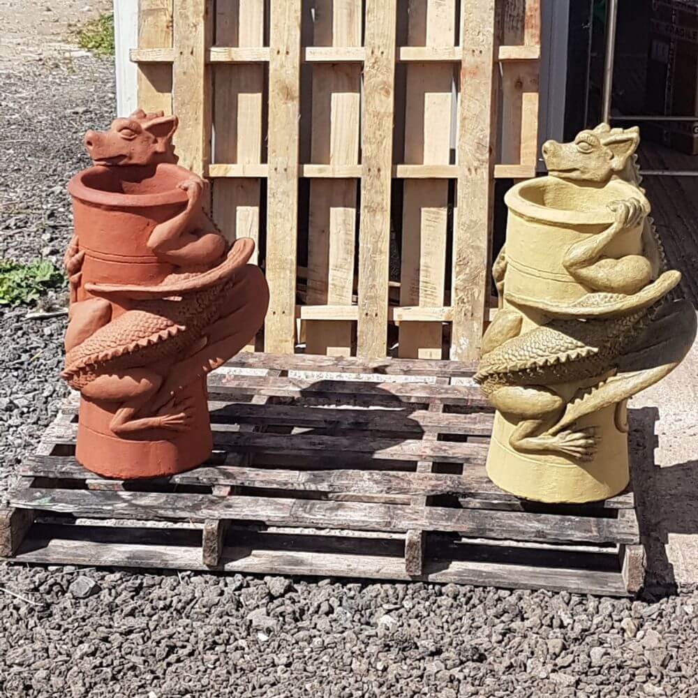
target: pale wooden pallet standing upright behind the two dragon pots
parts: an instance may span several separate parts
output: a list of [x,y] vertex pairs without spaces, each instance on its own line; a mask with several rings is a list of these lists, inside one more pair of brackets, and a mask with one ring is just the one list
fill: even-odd
[[267,351],[383,357],[399,325],[401,357],[463,360],[494,179],[535,174],[539,57],[540,0],[140,0],[131,52],[218,225],[258,241]]

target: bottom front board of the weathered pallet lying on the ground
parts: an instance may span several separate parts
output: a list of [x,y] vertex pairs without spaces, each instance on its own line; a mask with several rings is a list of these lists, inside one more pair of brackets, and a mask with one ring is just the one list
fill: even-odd
[[[130,531],[101,529],[97,542],[80,540],[76,526],[35,526],[37,534],[22,547],[17,563],[72,564],[108,567],[144,567],[173,570],[206,570],[200,547],[172,542],[138,542]],[[84,528],[84,527],[79,527]],[[111,534],[111,535],[107,535]],[[151,537],[172,538],[171,530],[158,529]],[[269,547],[260,534],[239,547],[224,547],[218,570],[249,574],[318,575],[454,584],[480,584],[503,588],[547,588],[581,594],[625,596],[618,572],[580,570],[565,567],[482,563],[462,560],[428,560],[420,577],[410,577],[399,555],[348,554],[341,551],[308,551],[291,542]],[[84,537],[84,534],[83,534]],[[293,540],[291,536],[288,537]],[[126,539],[126,540],[124,540]],[[261,541],[261,542],[260,542]],[[374,544],[374,548],[378,547]]]

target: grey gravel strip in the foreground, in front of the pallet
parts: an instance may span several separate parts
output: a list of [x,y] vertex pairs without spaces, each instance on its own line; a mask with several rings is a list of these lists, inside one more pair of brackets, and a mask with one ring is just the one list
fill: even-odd
[[698,593],[0,567],[0,695],[694,697]]

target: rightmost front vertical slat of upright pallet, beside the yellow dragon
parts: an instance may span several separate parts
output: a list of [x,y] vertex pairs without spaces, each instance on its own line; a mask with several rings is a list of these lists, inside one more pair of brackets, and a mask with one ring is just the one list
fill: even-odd
[[476,359],[487,318],[496,149],[493,63],[495,0],[461,6],[457,162],[459,203],[453,236],[452,359]]

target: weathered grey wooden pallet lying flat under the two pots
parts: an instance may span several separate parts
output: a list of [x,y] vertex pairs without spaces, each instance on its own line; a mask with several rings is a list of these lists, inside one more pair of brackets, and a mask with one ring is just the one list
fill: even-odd
[[65,403],[0,512],[22,563],[636,592],[632,492],[583,506],[500,491],[492,412],[460,362],[239,355],[209,377],[214,452],[163,480],[75,461]]

